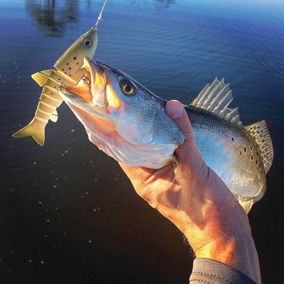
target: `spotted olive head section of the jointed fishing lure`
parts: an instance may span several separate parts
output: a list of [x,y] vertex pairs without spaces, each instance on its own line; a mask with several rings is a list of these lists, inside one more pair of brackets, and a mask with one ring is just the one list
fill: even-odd
[[93,58],[98,45],[98,36],[95,30],[88,30],[80,36],[57,60],[54,67],[64,72],[75,81],[80,80],[85,70],[83,66],[84,57]]

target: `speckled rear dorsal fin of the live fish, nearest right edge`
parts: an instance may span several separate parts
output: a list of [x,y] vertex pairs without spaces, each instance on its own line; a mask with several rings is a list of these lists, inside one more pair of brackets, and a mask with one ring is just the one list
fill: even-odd
[[259,147],[265,172],[267,173],[273,161],[273,145],[265,120],[244,127],[254,138]]

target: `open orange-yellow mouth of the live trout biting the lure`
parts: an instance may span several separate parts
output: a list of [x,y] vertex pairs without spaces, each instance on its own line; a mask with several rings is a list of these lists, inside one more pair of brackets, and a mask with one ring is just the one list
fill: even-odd
[[63,99],[81,109],[88,106],[89,111],[93,109],[94,112],[105,115],[121,109],[122,102],[113,90],[106,72],[109,67],[84,57],[82,68],[85,68],[86,72],[75,87],[68,85],[58,87]]

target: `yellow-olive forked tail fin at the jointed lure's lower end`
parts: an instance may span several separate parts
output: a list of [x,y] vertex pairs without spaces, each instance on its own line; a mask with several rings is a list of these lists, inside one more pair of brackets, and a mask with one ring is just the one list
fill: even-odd
[[12,137],[22,138],[27,136],[32,136],[36,143],[43,146],[44,143],[44,129],[47,124],[47,120],[43,120],[39,117],[34,117],[33,120],[14,133]]

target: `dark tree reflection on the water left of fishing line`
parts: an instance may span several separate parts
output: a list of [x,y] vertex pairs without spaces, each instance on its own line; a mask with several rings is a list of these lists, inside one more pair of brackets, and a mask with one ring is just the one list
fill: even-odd
[[[43,4],[42,4],[43,3]],[[78,23],[78,0],[65,0],[56,5],[55,0],[26,0],[26,11],[35,21],[43,35],[63,37],[67,23]]]

